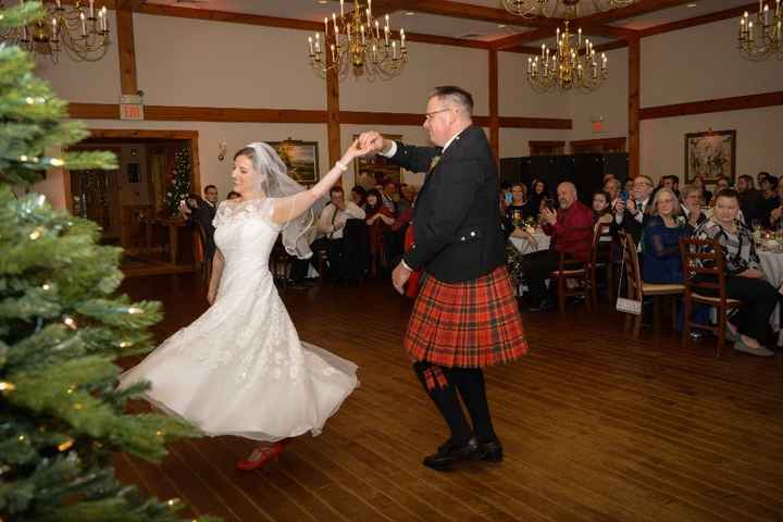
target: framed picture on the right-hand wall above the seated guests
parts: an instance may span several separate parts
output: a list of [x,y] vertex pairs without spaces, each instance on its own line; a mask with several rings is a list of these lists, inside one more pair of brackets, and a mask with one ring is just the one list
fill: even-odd
[[685,183],[700,175],[705,183],[719,177],[732,184],[736,176],[736,130],[708,130],[685,135]]

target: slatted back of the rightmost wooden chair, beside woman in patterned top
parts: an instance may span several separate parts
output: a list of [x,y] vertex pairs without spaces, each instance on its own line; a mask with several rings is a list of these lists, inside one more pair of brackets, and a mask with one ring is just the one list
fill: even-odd
[[720,306],[725,307],[725,262],[723,248],[718,239],[681,238],[680,257],[683,263],[685,296],[717,295]]

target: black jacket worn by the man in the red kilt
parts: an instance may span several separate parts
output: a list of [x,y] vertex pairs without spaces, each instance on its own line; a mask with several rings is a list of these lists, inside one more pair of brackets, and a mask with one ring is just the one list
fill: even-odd
[[391,161],[427,173],[413,209],[415,244],[403,257],[408,266],[460,283],[506,263],[498,172],[481,127],[464,129],[443,153],[398,142]]

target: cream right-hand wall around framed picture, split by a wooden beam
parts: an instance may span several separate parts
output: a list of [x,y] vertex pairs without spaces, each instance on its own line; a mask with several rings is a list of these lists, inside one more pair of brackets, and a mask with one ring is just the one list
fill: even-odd
[[[642,40],[642,107],[783,90],[780,62],[750,62],[735,49],[736,20]],[[644,120],[641,172],[684,182],[685,134],[736,130],[736,175],[783,173],[783,107]]]

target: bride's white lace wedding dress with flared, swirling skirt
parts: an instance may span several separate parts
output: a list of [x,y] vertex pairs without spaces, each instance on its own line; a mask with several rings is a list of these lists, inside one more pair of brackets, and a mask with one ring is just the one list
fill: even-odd
[[214,303],[120,376],[121,388],[150,381],[146,399],[207,435],[318,435],[359,384],[356,364],[299,340],[277,295],[274,201],[221,203],[214,237],[225,265]]

